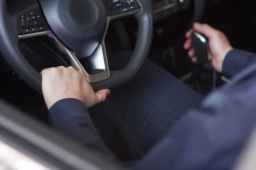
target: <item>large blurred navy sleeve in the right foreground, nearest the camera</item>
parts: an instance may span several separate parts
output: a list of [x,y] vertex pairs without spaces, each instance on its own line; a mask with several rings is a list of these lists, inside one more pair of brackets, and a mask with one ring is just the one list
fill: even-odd
[[256,123],[254,74],[227,83],[186,113],[135,169],[233,169]]

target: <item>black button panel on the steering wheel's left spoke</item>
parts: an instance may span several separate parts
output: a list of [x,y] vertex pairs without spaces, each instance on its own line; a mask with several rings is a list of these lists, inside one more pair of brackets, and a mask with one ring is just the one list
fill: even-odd
[[20,14],[19,18],[19,34],[30,34],[49,29],[40,8]]

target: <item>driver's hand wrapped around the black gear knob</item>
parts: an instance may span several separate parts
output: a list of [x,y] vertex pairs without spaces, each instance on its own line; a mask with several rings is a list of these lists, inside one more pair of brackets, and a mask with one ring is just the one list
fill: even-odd
[[204,36],[209,39],[208,58],[212,59],[212,65],[215,70],[221,73],[224,58],[227,53],[233,49],[230,42],[227,40],[227,37],[221,31],[218,31],[207,24],[195,23],[193,29],[186,33],[187,40],[184,44],[184,48],[189,50],[188,55],[194,63],[197,62],[197,58],[195,56],[195,50],[192,48],[191,34],[193,30],[204,34]]

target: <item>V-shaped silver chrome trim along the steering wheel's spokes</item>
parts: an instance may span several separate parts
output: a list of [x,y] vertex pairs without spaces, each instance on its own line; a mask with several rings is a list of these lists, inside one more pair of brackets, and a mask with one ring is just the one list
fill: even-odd
[[108,67],[108,59],[105,49],[105,36],[108,31],[108,26],[111,20],[118,19],[121,17],[126,17],[129,15],[137,14],[141,11],[140,9],[135,9],[133,11],[128,11],[122,14],[113,15],[110,17],[107,17],[107,24],[106,24],[106,30],[104,33],[104,36],[102,38],[102,41],[99,43],[96,50],[93,52],[93,54],[90,56],[90,62],[93,67],[93,69],[97,70],[104,70],[102,72],[99,72],[97,74],[88,74],[87,71],[85,71],[84,67],[79,62],[79,59],[77,59],[76,55],[68,49],[63,43],[61,43],[57,37],[52,33],[52,31],[42,31],[37,33],[31,33],[31,34],[24,34],[19,35],[20,40],[32,38],[32,37],[40,37],[40,36],[47,36],[50,40],[52,40],[52,44],[56,47],[54,50],[58,51],[58,54],[68,63],[68,65],[73,66],[77,70],[83,71],[86,75],[87,79],[91,83],[100,82],[105,79],[108,79],[110,77],[110,71]]

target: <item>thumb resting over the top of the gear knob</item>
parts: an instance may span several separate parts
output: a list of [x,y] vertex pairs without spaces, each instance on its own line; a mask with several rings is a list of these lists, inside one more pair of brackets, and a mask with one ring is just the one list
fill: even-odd
[[204,34],[207,38],[215,36],[216,29],[212,28],[208,24],[195,23],[193,28],[201,34]]

